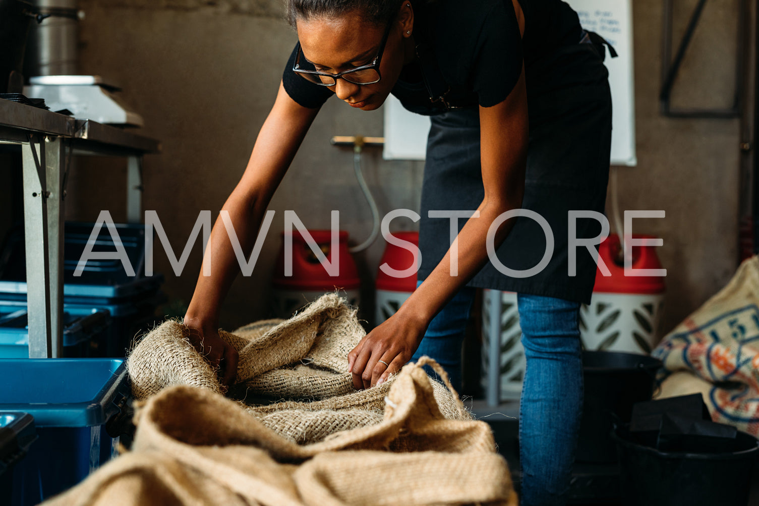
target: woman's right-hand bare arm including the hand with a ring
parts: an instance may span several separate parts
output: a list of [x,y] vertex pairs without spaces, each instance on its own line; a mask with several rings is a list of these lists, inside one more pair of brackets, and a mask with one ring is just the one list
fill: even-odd
[[[527,93],[524,68],[506,99],[480,107],[480,154],[484,198],[458,233],[458,276],[451,276],[451,250],[391,318],[372,330],[348,354],[357,388],[370,387],[398,372],[414,355],[424,331],[437,312],[487,262],[490,224],[507,210],[521,207],[528,149]],[[455,189],[452,189],[455,191]],[[506,221],[496,232],[499,245],[512,229]],[[387,362],[389,366],[379,362]]]

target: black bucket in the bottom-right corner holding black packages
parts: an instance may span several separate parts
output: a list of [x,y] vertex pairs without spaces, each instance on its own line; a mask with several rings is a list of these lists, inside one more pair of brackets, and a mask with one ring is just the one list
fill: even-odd
[[759,456],[757,440],[738,432],[731,451],[666,452],[638,444],[623,427],[613,432],[619,451],[622,504],[630,506],[746,506]]

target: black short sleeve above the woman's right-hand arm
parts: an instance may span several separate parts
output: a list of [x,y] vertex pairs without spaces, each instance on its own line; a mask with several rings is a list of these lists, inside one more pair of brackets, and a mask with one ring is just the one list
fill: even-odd
[[474,49],[471,85],[480,106],[495,106],[509,96],[521,75],[523,59],[514,5],[511,0],[496,2],[483,21]]

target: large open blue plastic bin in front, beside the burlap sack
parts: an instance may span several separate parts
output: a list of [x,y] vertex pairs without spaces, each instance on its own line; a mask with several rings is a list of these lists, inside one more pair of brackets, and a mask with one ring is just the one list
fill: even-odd
[[29,413],[39,435],[14,467],[11,504],[39,504],[110,460],[108,428],[130,397],[121,359],[0,359],[0,415]]

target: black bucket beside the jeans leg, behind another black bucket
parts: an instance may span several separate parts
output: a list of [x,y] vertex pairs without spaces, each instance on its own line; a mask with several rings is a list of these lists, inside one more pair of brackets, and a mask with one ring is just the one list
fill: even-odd
[[659,359],[635,353],[585,351],[582,421],[576,460],[616,461],[616,444],[610,438],[613,422],[629,422],[632,405],[650,400]]

